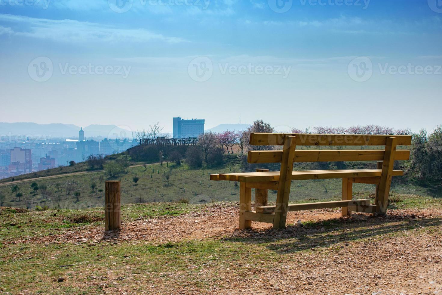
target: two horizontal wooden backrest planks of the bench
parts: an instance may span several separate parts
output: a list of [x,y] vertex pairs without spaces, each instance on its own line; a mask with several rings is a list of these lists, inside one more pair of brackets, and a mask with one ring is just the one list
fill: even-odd
[[[392,156],[394,160],[408,160],[410,151],[396,150],[396,146],[409,146],[411,135],[348,135],[348,134],[282,134],[251,133],[253,146],[284,146],[286,136],[294,136],[295,146],[385,146],[389,138],[396,138]],[[383,161],[385,149],[295,149],[293,162],[337,162],[337,161]],[[251,150],[249,163],[281,163],[283,150]]]

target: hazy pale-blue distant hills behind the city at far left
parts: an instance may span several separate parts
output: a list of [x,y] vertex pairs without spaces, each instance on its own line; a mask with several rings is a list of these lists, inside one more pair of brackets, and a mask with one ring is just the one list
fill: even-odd
[[[115,125],[89,125],[83,128],[84,137],[131,138],[130,130]],[[73,124],[2,123],[0,135],[8,139],[17,136],[29,138],[78,138],[80,127]]]

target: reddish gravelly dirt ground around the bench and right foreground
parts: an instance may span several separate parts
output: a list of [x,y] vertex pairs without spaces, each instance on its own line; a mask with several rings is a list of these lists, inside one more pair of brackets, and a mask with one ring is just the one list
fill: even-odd
[[[330,209],[289,212],[289,224],[299,219],[316,223],[308,228],[287,226],[286,230],[252,222],[253,230],[240,231],[238,218],[237,207],[212,206],[176,217],[137,218],[123,223],[121,232],[104,234],[101,227],[84,226],[14,243],[270,241],[267,251],[279,254],[277,260],[263,256],[251,268],[238,264],[237,268],[244,268],[241,276],[229,268],[207,268],[199,273],[205,280],[221,277],[229,283],[228,289],[209,292],[182,287],[176,294],[442,294],[441,209],[391,210],[385,218],[363,214],[342,218],[339,211]],[[323,220],[333,226],[324,229]],[[265,267],[268,265],[271,268]],[[170,292],[157,286],[149,294]],[[108,291],[125,290],[118,288]]]

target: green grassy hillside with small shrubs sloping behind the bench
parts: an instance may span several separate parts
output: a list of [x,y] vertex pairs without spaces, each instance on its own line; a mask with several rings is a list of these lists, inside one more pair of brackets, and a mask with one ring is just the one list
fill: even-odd
[[[145,202],[189,202],[201,204],[215,201],[238,201],[239,184],[232,181],[211,181],[212,173],[240,172],[240,161],[236,155],[225,156],[225,164],[210,169],[191,169],[186,164],[172,165],[164,162],[147,164],[145,166],[130,167],[127,172],[112,179],[121,180],[122,203]],[[352,163],[351,168],[373,163]],[[266,165],[266,164],[263,164]],[[267,165],[271,170],[278,170],[278,165]],[[330,167],[333,168],[333,167]],[[298,165],[298,170],[317,169],[312,165]],[[250,170],[253,171],[253,170]],[[169,181],[166,174],[170,173]],[[137,184],[133,177],[139,178]],[[400,179],[403,179],[400,181]],[[18,199],[11,192],[14,184],[0,184],[0,194],[6,196],[4,206],[28,207],[36,206],[49,208],[79,209],[104,205],[104,181],[107,176],[103,170],[83,174],[59,176],[40,180],[22,181],[16,185],[23,196]],[[31,184],[46,186],[49,195],[40,190],[34,191]],[[71,192],[67,192],[68,184],[74,184]],[[96,184],[92,190],[91,183]],[[295,200],[324,200],[339,199],[341,194],[341,180],[302,180],[293,182],[290,199]],[[427,188],[404,181],[404,177],[396,177],[392,186],[392,193],[431,195]],[[78,198],[74,192],[80,192]],[[354,184],[354,194],[369,195],[374,193],[374,185]],[[140,199],[141,198],[141,199]],[[269,191],[269,201],[276,200],[276,191]]]

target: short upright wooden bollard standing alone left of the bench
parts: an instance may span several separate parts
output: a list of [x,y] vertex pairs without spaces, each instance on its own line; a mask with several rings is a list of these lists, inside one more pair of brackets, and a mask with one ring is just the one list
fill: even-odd
[[118,230],[121,226],[121,182],[119,180],[107,180],[104,183],[104,211],[105,230]]

